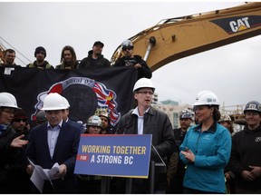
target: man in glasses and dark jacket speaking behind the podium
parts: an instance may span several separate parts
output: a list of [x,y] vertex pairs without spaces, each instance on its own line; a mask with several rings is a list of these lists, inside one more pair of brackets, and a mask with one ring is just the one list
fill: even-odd
[[[116,133],[152,134],[150,160],[164,163],[174,151],[175,140],[168,115],[151,107],[154,91],[155,87],[148,78],[135,83],[133,93],[138,106],[121,117]],[[166,172],[155,177],[155,192],[165,191],[166,179]],[[148,193],[148,180],[132,181],[132,193]]]

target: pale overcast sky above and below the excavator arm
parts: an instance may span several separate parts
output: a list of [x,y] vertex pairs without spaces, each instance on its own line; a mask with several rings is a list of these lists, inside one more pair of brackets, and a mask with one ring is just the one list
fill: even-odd
[[[63,46],[70,44],[82,60],[92,44],[105,45],[109,60],[121,42],[160,22],[161,19],[196,15],[243,5],[244,2],[0,2],[0,44],[16,49],[25,64],[34,61],[34,49],[43,45],[47,60],[60,63]],[[3,40],[4,39],[4,40]],[[8,43],[5,43],[5,41]],[[135,49],[134,49],[135,50]],[[214,50],[179,59],[152,73],[160,101],[171,99],[193,104],[201,90],[218,95],[223,105],[261,101],[261,36],[228,44]],[[21,54],[19,54],[19,52]],[[16,59],[16,64],[22,64]]]

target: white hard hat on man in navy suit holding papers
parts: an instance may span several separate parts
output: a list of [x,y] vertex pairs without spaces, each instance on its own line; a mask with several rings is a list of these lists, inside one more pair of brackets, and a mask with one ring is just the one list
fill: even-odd
[[64,97],[59,93],[49,93],[43,100],[44,111],[53,111],[53,110],[64,110],[67,109],[68,105],[64,101]]

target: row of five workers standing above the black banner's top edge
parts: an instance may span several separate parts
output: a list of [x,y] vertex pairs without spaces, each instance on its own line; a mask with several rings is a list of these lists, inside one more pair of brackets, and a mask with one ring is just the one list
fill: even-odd
[[[141,58],[140,55],[133,54],[133,44],[131,40],[124,40],[121,44],[121,51],[123,56],[119,58],[115,64],[106,59],[102,54],[104,44],[101,41],[96,41],[92,45],[92,50],[88,52],[88,56],[81,61],[77,60],[77,55],[71,45],[65,45],[61,54],[61,64],[53,66],[45,60],[47,52],[43,46],[35,48],[35,61],[32,64],[27,64],[26,67],[39,69],[84,69],[84,68],[102,68],[102,67],[119,67],[128,66],[138,70],[138,79],[141,77],[151,78],[152,74],[148,64]],[[3,54],[4,63],[0,66],[5,67],[21,67],[15,64],[15,51],[13,49],[6,49]]]

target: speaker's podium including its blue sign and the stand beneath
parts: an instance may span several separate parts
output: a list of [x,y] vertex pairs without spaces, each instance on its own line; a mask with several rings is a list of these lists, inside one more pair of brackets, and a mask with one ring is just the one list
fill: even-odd
[[[140,187],[131,187],[132,182],[150,184],[150,193],[154,192],[155,173],[165,168],[162,163],[151,162],[151,134],[82,134],[75,162],[75,174],[102,176],[101,193],[111,193],[111,179],[122,182],[119,188],[125,193],[139,191]],[[154,147],[155,148],[155,147]],[[157,151],[156,151],[157,152]],[[157,152],[158,153],[158,152]],[[111,178],[112,177],[112,178]],[[161,179],[161,178],[160,178]],[[126,184],[124,184],[126,180]],[[157,179],[156,179],[157,181]],[[120,189],[119,189],[120,190]],[[119,191],[116,188],[116,191]],[[124,189],[120,190],[122,193]]]

